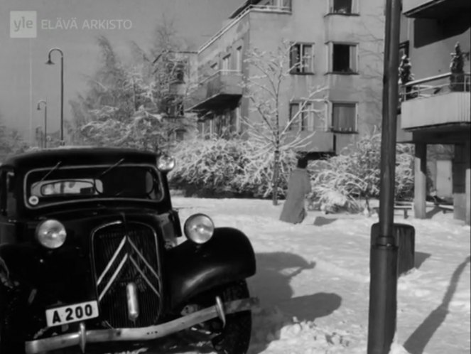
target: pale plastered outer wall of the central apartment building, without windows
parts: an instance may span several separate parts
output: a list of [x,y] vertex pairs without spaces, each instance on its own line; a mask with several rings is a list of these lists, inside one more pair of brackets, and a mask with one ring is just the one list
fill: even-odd
[[[220,63],[222,57],[226,53],[233,53],[239,43],[242,43],[244,52],[249,48],[276,50],[283,39],[314,43],[315,73],[290,75],[284,82],[281,118],[288,118],[291,100],[306,97],[312,87],[328,87],[328,90],[317,97],[325,97],[331,102],[357,102],[357,131],[360,135],[372,132],[375,125],[381,124],[384,1],[359,1],[358,16],[327,14],[326,1],[296,0],[292,4],[291,14],[249,11],[236,21],[227,22],[229,27],[224,29],[224,33],[200,48],[200,73],[205,75],[212,63]],[[331,41],[357,43],[358,73],[328,73],[328,43]],[[253,72],[253,68],[244,65],[245,75]],[[251,113],[247,98],[242,98],[240,104],[244,117],[253,116],[249,119],[256,119],[256,115]],[[325,107],[328,107],[327,102]],[[327,109],[326,112],[326,127],[330,127],[330,112]],[[333,135],[330,135],[321,140],[331,141]],[[350,144],[357,136],[358,134],[337,134],[337,151]]]

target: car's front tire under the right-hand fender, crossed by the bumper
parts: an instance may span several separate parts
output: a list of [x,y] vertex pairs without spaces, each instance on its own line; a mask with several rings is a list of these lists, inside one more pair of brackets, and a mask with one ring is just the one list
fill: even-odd
[[[220,291],[223,302],[247,299],[249,289],[247,281],[224,286]],[[226,326],[212,339],[212,345],[218,354],[246,354],[251,337],[251,311],[240,311],[226,316]]]

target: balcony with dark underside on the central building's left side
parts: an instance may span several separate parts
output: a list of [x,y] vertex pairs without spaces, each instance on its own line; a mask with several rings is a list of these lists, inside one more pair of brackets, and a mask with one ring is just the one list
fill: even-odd
[[220,70],[205,78],[190,94],[195,104],[190,111],[224,109],[242,97],[242,74],[237,70]]

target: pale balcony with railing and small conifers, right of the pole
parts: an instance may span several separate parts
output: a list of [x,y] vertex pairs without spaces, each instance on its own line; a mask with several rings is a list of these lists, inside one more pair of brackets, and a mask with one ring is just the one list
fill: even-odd
[[400,95],[402,129],[470,124],[470,73],[411,81]]

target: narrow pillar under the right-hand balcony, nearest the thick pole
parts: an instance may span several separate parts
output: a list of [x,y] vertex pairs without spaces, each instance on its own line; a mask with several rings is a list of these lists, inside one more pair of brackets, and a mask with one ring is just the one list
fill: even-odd
[[427,198],[427,144],[416,143],[414,159],[413,211],[418,219],[425,219]]

